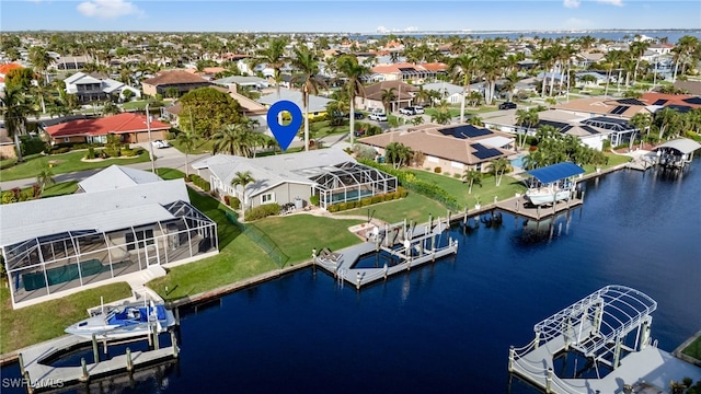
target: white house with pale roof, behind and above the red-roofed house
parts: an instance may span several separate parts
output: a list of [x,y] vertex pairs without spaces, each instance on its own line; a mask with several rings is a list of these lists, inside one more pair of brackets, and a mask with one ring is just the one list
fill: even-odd
[[101,76],[76,72],[64,80],[66,93],[78,96],[79,103],[112,100],[113,96],[125,99],[124,92],[130,91],[134,97],[141,97],[141,91],[119,81]]

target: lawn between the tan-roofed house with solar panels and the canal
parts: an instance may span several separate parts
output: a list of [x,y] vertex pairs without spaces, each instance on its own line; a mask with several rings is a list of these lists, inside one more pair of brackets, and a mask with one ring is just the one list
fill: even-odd
[[443,189],[456,197],[456,199],[462,207],[468,207],[470,209],[474,207],[478,198],[480,199],[480,202],[482,205],[485,205],[493,202],[494,196],[496,196],[497,199],[502,201],[507,198],[514,197],[516,193],[522,194],[526,192],[526,185],[524,185],[522,182],[517,181],[508,175],[504,175],[502,177],[501,185],[496,186],[494,176],[485,174],[482,178],[482,185],[473,185],[472,193],[468,194],[469,185],[467,183],[463,183],[461,179],[456,179],[452,176],[448,176],[445,174],[435,174],[422,170],[411,170],[411,172],[422,181],[426,181],[428,183],[440,186]]

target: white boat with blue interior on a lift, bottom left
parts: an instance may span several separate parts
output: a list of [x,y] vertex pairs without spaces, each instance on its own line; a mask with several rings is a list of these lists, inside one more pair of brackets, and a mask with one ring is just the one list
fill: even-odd
[[136,336],[146,336],[153,332],[168,331],[175,324],[173,312],[162,304],[126,304],[99,313],[92,317],[80,321],[68,328],[66,333],[84,338],[120,339]]

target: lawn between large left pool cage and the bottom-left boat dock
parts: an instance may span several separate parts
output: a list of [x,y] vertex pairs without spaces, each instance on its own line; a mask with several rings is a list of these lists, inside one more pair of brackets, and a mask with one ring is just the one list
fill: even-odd
[[0,354],[64,335],[66,327],[88,317],[87,309],[100,305],[100,297],[104,302],[112,302],[130,296],[129,285],[120,282],[13,310],[10,289],[3,282],[0,288]]

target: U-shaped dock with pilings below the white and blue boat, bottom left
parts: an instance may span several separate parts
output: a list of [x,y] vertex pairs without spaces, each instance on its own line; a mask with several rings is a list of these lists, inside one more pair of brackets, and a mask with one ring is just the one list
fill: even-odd
[[[171,332],[171,345],[165,347],[159,347],[157,337],[152,339],[151,350],[129,351],[127,348],[125,355],[114,356],[108,360],[87,363],[83,358],[81,366],[77,367],[53,367],[44,363],[56,357],[57,354],[90,347],[90,345],[93,348],[93,358],[100,360],[100,347],[110,345],[110,343],[105,345],[77,335],[66,335],[22,349],[19,352],[20,371],[25,379],[27,392],[33,393],[89,382],[91,379],[124,371],[131,372],[145,366],[177,358],[180,349],[176,345],[175,333]],[[146,337],[139,339],[146,340]]]

